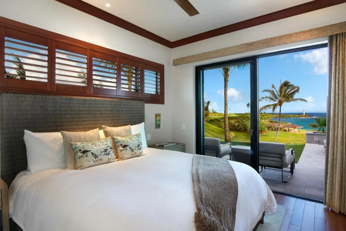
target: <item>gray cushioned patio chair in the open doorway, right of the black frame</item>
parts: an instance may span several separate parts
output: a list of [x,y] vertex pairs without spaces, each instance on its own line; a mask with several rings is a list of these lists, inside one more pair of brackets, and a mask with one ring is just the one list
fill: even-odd
[[[286,150],[285,144],[272,143],[272,142],[260,142],[260,166],[280,169],[281,180],[288,182],[293,175],[293,169],[295,166],[295,153],[293,148]],[[284,180],[283,172],[284,168],[290,166],[290,175]]]

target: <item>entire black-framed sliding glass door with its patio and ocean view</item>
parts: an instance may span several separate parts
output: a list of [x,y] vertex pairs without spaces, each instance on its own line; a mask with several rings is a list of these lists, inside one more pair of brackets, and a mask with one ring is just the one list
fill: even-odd
[[318,44],[196,67],[196,153],[251,165],[275,193],[321,201],[327,57]]

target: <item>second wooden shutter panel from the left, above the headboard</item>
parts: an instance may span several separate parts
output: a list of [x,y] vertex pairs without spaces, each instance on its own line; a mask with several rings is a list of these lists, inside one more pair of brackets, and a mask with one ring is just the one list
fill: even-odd
[[55,89],[66,92],[87,92],[87,53],[78,46],[54,42]]

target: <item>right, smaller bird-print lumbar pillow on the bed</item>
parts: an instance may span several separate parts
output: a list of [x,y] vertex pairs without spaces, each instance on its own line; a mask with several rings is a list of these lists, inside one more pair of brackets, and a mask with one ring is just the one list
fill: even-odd
[[143,155],[142,137],[140,133],[124,137],[113,136],[114,148],[117,147],[118,160],[126,160]]

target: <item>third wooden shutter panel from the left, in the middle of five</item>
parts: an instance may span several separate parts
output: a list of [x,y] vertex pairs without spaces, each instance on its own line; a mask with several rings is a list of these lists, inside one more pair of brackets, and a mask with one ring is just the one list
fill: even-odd
[[117,58],[100,52],[92,55],[92,93],[118,95]]

